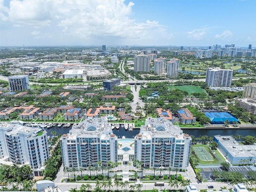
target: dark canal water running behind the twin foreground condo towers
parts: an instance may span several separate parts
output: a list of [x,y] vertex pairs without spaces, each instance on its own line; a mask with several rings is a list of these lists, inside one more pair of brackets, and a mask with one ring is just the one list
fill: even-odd
[[[47,131],[48,136],[51,135],[52,131],[56,131],[57,134],[67,134],[69,133],[70,127],[58,127],[54,126],[51,128],[45,128]],[[199,137],[200,135],[207,135],[207,136],[213,136],[213,135],[236,135],[240,134],[242,136],[256,136],[256,128],[250,128],[250,129],[244,129],[244,128],[236,128],[236,129],[227,129],[227,128],[220,128],[220,129],[210,129],[210,128],[201,128],[201,129],[182,129],[183,133],[193,135],[195,137]],[[118,136],[118,138],[122,138],[122,136],[125,136],[125,138],[134,138],[137,134],[140,133],[140,129],[133,129],[132,131],[125,130],[124,128],[113,129],[113,133]]]

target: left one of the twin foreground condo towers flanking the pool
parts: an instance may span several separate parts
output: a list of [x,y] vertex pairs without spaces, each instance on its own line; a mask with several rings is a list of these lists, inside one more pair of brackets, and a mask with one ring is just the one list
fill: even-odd
[[107,166],[118,161],[117,136],[105,117],[72,126],[69,134],[60,138],[60,148],[64,167],[98,166],[99,161]]

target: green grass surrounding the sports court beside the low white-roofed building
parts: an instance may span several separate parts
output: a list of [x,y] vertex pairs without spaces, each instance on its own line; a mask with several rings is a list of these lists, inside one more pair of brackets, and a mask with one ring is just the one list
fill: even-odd
[[220,165],[225,159],[222,157],[222,155],[218,152],[218,150],[210,150],[208,145],[203,144],[196,144],[191,146],[191,152],[194,154],[194,148],[195,147],[203,147],[209,154],[213,154],[215,156],[213,161],[201,161],[200,158],[198,158],[197,155],[196,158],[198,159],[198,165]]

